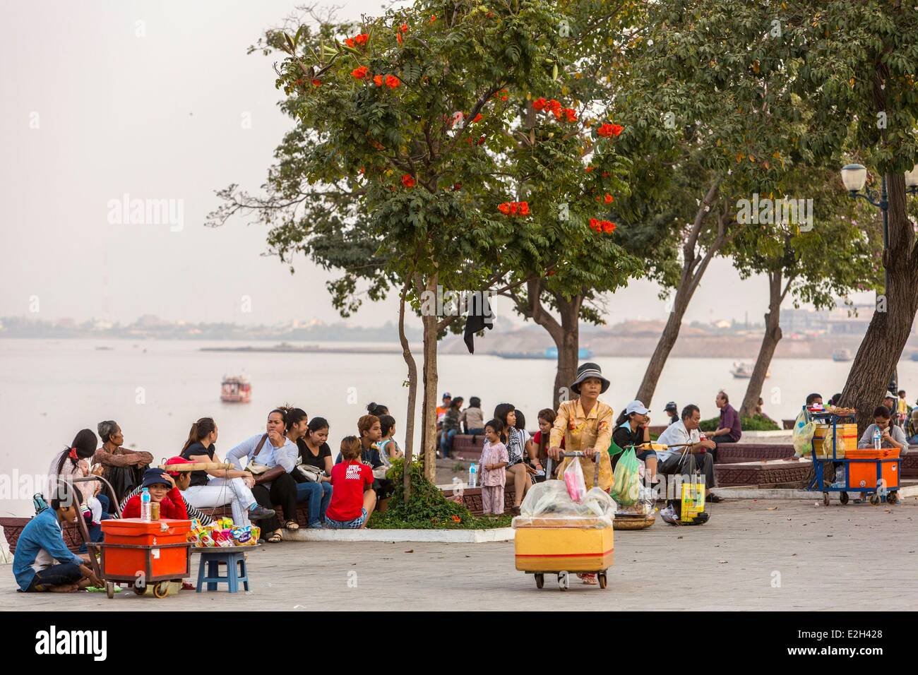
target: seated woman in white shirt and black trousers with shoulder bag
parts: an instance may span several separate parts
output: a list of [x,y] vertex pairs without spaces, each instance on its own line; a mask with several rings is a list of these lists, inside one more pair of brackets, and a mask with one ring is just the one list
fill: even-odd
[[[297,481],[290,473],[297,466],[297,445],[285,435],[286,412],[275,408],[268,413],[265,433],[256,433],[242,441],[227,453],[227,461],[241,470],[242,457],[246,457],[246,470],[252,473],[255,487],[252,495],[265,511],[272,511],[274,504],[284,509],[284,527],[293,532],[299,529],[297,523]],[[262,532],[268,544],[283,540],[281,523],[272,513],[263,517]]]

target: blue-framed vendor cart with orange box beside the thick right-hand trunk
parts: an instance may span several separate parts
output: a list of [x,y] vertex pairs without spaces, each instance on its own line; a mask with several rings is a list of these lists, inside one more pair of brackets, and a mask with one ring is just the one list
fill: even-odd
[[[900,452],[898,448],[858,448],[857,425],[853,414],[811,412],[816,422],[812,437],[813,478],[807,489],[823,492],[823,504],[828,506],[830,495],[838,493],[845,505],[850,493],[861,495],[877,506],[881,501],[899,501]],[[826,466],[835,467],[835,481],[827,483]],[[844,478],[838,478],[838,469]]]

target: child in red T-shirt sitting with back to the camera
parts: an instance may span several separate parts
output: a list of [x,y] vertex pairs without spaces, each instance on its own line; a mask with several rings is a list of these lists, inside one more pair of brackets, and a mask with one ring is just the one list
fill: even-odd
[[326,526],[363,529],[376,506],[373,469],[360,461],[363,446],[356,436],[341,440],[341,464],[331,468],[331,501],[325,512]]

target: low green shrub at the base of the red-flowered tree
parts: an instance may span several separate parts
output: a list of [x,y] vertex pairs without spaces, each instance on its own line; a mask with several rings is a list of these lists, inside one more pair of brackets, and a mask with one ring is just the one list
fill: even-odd
[[375,512],[367,527],[386,530],[483,530],[509,526],[510,516],[476,517],[463,504],[448,501],[437,486],[424,478],[423,467],[418,462],[412,462],[410,465],[411,495],[406,503],[402,484],[403,471],[404,460],[393,460],[392,467],[386,472],[386,478],[395,483],[396,489],[386,512]]

